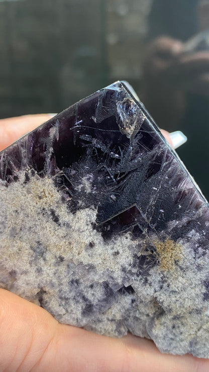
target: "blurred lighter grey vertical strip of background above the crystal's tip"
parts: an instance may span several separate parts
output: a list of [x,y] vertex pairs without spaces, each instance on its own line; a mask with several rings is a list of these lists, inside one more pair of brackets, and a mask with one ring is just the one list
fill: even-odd
[[108,0],[107,3],[109,78],[125,78],[135,84],[141,75],[151,0]]

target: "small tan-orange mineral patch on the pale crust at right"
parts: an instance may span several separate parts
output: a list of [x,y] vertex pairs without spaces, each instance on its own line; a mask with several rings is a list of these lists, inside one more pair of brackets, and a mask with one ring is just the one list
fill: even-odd
[[160,268],[163,271],[172,270],[176,262],[182,259],[182,246],[171,239],[153,242],[160,258]]

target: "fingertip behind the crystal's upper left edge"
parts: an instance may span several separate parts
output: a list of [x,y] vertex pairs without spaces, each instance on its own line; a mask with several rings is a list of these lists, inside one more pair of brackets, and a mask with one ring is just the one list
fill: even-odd
[[0,119],[0,151],[49,120],[52,116],[53,114],[37,114]]

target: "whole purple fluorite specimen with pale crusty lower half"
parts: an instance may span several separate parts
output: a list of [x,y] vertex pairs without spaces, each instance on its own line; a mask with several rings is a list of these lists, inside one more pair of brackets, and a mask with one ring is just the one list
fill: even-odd
[[1,152],[0,284],[63,323],[209,357],[209,209],[121,82]]

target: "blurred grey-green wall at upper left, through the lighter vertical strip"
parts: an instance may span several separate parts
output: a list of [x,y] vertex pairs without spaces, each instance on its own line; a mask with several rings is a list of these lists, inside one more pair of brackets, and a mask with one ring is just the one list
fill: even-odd
[[0,2],[0,117],[58,112],[137,84],[151,0]]

